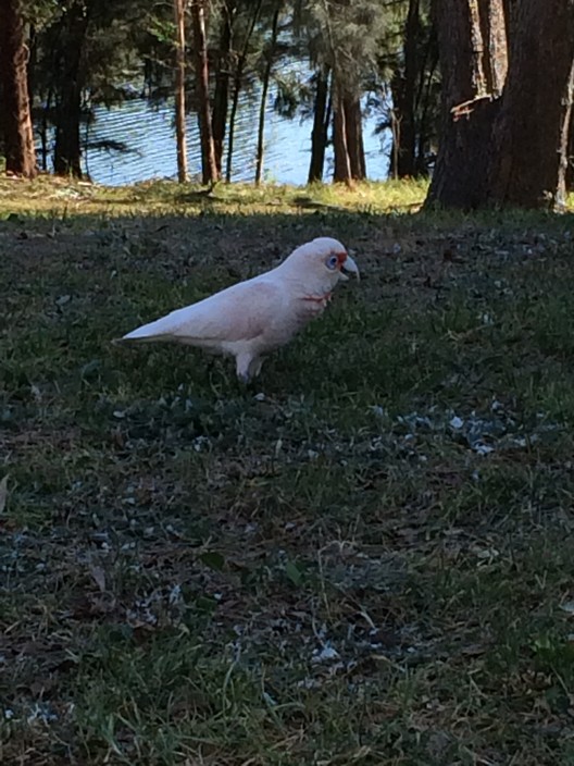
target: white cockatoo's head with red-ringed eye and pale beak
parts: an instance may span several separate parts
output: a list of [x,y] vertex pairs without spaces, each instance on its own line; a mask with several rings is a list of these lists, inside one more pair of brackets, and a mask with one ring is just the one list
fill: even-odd
[[317,237],[301,245],[284,261],[284,265],[299,272],[309,285],[316,283],[326,289],[335,287],[339,280],[348,280],[348,274],[359,279],[357,263],[345,246],[332,237]]

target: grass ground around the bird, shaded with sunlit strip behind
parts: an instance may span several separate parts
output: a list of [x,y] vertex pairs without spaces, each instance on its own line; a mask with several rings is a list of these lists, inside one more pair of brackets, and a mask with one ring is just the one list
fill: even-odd
[[[0,183],[0,759],[574,763],[571,215],[198,192]],[[255,388],[110,344],[317,235]]]

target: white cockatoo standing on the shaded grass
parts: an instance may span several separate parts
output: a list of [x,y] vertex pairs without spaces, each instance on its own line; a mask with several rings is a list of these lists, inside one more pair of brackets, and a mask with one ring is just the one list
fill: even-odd
[[357,263],[337,239],[301,245],[278,267],[209,298],[144,324],[121,342],[176,341],[235,357],[237,376],[248,382],[263,357],[288,343],[323,313],[345,272],[359,279]]

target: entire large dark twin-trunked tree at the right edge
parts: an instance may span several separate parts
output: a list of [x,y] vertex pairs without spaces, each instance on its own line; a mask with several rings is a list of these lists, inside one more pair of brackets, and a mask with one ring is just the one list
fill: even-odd
[[435,5],[444,98],[428,203],[548,208],[564,200],[574,0],[520,0],[510,25],[509,7]]

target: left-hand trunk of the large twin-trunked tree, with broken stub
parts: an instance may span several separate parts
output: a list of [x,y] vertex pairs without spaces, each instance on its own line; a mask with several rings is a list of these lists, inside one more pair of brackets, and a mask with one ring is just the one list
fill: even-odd
[[[489,14],[488,27],[503,20],[502,0],[479,0]],[[442,72],[442,126],[427,203],[473,208],[488,195],[488,163],[492,122],[499,101],[489,95],[488,73],[502,62],[489,62],[476,0],[436,0],[434,12]],[[503,30],[494,30],[499,38]],[[501,55],[501,52],[499,51]],[[506,50],[504,50],[506,55]]]

